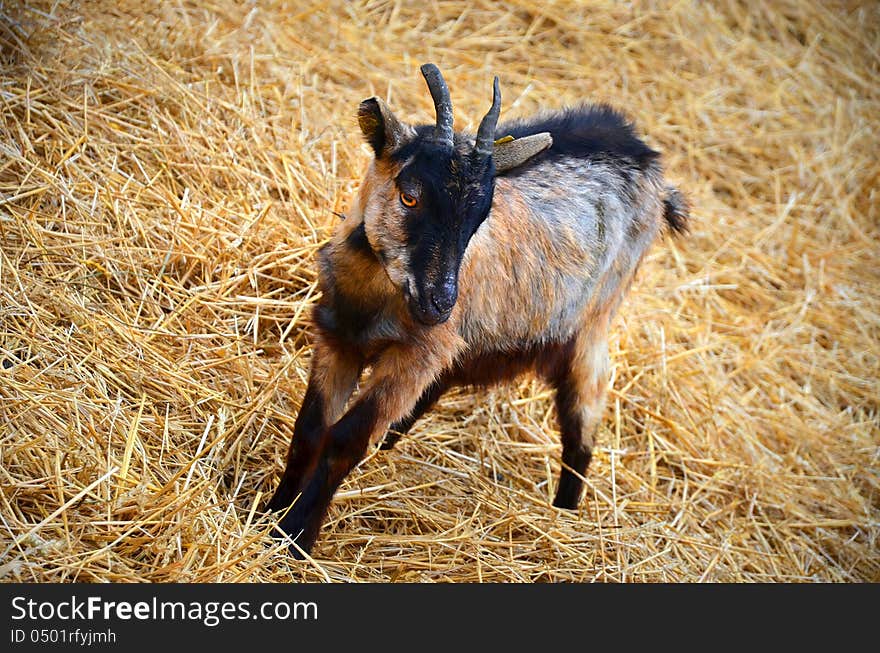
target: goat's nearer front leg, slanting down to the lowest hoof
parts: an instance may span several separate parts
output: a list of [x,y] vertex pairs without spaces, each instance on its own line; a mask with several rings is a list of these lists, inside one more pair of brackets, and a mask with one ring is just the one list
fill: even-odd
[[[415,346],[393,347],[382,354],[357,400],[327,430],[314,471],[279,524],[303,551],[311,550],[333,494],[363,459],[370,442],[410,413],[445,362]],[[291,553],[301,557],[295,547]]]

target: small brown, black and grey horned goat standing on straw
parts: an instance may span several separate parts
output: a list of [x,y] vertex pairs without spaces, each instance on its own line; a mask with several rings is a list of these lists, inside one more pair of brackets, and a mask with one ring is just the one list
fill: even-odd
[[451,387],[527,370],[556,390],[553,505],[575,508],[605,402],[609,323],[661,224],[687,227],[659,154],[613,109],[496,129],[496,77],[474,137],[453,131],[437,67],[421,71],[436,124],[402,122],[378,97],[361,103],[375,159],[319,253],[311,374],[269,504],[287,510],[280,527],[306,552],[371,442],[387,431],[393,447]]

